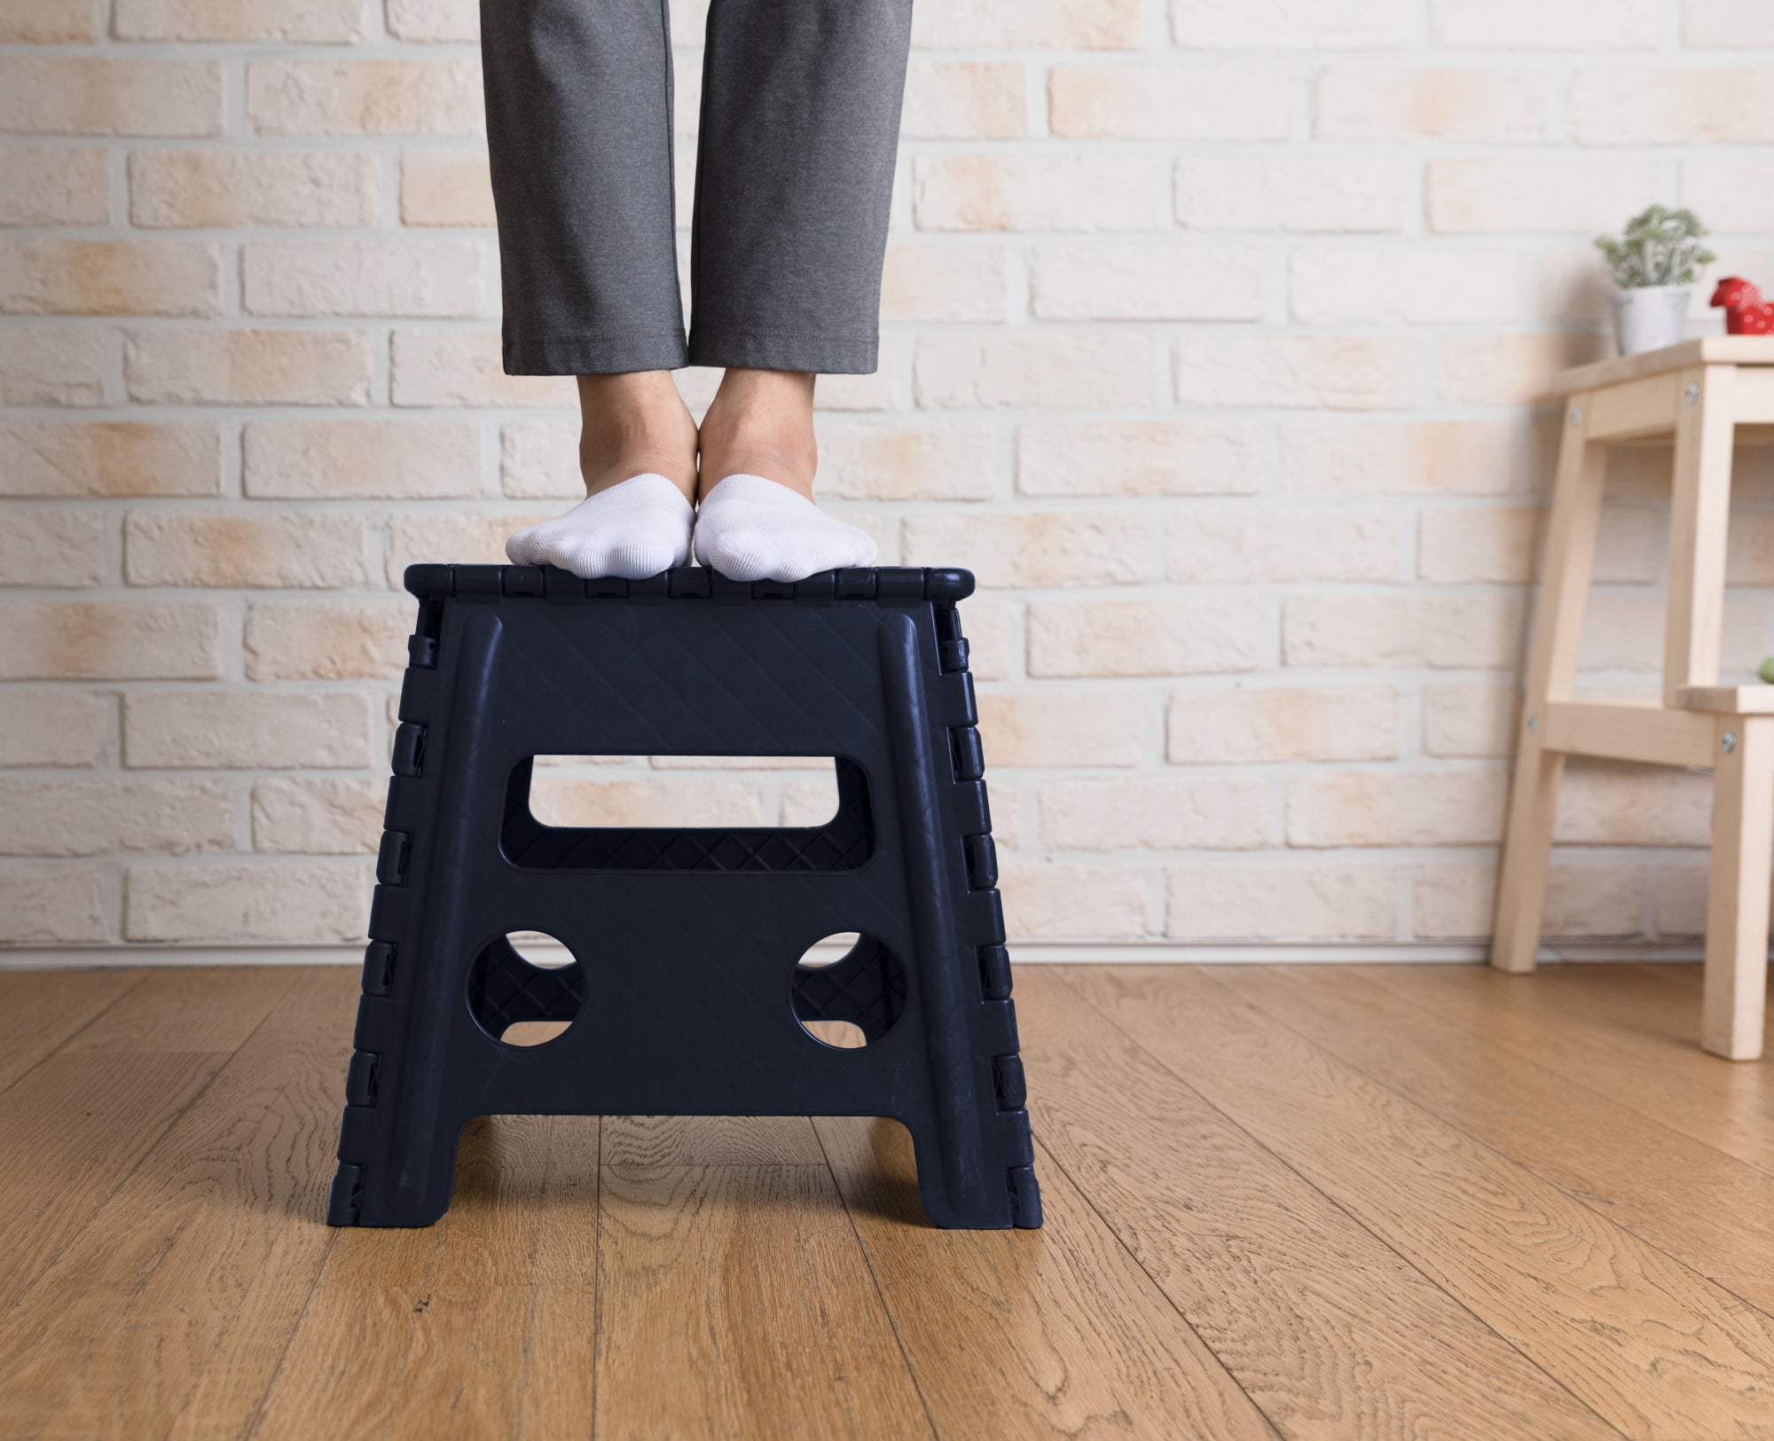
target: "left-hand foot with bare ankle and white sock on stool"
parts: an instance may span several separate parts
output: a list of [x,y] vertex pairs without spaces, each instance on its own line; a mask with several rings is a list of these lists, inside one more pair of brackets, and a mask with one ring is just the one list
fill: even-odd
[[639,580],[690,559],[695,421],[669,371],[580,376],[585,499],[518,531],[506,555],[582,577]]

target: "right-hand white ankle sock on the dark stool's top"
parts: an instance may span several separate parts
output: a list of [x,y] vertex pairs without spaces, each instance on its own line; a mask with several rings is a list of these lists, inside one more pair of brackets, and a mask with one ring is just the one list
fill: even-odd
[[875,564],[867,531],[763,476],[727,476],[695,509],[695,559],[729,580],[805,580]]

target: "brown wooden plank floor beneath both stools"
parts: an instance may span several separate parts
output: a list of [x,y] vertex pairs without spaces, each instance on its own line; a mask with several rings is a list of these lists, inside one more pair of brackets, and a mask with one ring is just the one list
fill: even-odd
[[355,990],[0,972],[0,1437],[1774,1436],[1696,967],[1025,967],[1041,1232],[889,1122],[635,1116],[332,1232]]

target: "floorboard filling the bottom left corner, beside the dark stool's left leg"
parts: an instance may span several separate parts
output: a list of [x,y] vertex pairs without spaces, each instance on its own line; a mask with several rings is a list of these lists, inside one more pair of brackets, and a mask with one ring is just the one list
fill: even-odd
[[[355,987],[282,1003],[0,1320],[5,1434],[165,1436],[250,1414],[314,1287],[328,1232]],[[234,1395],[222,1398],[224,1390]]]

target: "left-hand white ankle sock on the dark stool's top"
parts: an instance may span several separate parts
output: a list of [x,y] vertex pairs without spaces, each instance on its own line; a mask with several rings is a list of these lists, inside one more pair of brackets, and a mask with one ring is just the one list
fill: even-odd
[[587,580],[642,580],[690,559],[690,502],[663,476],[630,476],[587,495],[566,515],[506,541],[514,566],[561,566]]

